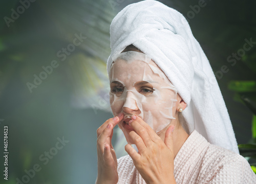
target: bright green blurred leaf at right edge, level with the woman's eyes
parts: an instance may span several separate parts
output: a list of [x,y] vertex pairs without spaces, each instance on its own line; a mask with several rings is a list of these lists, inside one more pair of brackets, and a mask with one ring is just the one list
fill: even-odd
[[256,91],[256,81],[230,81],[228,88],[236,92]]

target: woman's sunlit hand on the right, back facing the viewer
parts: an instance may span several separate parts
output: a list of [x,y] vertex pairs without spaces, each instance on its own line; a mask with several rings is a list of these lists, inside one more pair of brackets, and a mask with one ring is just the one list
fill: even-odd
[[174,178],[173,130],[169,126],[165,132],[164,142],[140,117],[133,115],[129,122],[135,130],[129,135],[139,152],[130,145],[125,151],[132,157],[133,162],[147,184],[176,183]]

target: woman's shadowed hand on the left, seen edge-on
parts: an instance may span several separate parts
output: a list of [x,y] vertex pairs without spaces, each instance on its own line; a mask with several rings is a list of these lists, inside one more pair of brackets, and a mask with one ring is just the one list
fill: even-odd
[[97,129],[98,176],[96,184],[118,182],[116,153],[112,146],[113,128],[123,119],[123,113],[106,120]]

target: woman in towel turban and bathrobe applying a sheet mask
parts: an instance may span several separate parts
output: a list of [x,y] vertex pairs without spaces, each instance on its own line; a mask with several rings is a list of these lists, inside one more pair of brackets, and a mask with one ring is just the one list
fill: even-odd
[[[119,12],[110,33],[115,117],[97,130],[96,183],[255,183],[185,18],[142,1]],[[128,142],[128,155],[118,160],[111,144],[117,124]]]

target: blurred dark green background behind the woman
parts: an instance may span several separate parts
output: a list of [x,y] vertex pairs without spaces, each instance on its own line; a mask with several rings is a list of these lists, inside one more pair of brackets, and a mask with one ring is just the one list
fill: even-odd
[[[136,2],[1,1],[0,150],[8,125],[9,176],[2,175],[0,183],[94,183],[96,129],[112,117],[105,64],[109,27]],[[243,46],[246,39],[256,42],[256,2],[160,2],[189,21],[218,76],[238,143],[253,143],[256,44],[244,51]],[[59,139],[66,140],[61,148]],[[124,152],[121,143],[117,152]],[[33,174],[35,165],[41,169]]]

